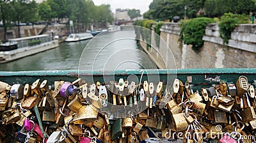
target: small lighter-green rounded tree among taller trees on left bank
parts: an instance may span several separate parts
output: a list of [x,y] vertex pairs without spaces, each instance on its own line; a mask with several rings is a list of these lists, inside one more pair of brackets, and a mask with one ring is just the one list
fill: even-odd
[[52,9],[51,6],[46,2],[43,1],[38,5],[38,15],[40,16],[41,20],[50,20],[52,17]]

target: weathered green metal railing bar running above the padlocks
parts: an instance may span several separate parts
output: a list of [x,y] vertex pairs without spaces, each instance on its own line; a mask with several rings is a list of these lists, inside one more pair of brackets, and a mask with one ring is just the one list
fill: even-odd
[[[141,77],[143,70],[119,70],[115,72],[90,72],[77,70],[64,70],[64,71],[22,71],[22,72],[0,72],[0,81],[7,82],[9,84],[20,83],[32,84],[36,79],[47,79],[49,84],[53,84],[54,80],[74,81],[78,77],[93,77],[93,80],[103,82],[103,77],[115,76],[116,79],[127,79],[129,75],[136,75],[138,79]],[[166,82],[168,76],[177,77],[186,82],[191,79],[191,84],[211,83],[214,81],[207,80],[214,79],[219,76],[221,80],[227,82],[236,82],[240,75],[244,75],[248,78],[248,82],[252,83],[256,80],[256,68],[208,68],[208,69],[179,69],[179,70],[145,70],[143,72],[143,80],[147,80],[148,76],[159,76],[160,80]],[[168,79],[172,80],[172,79]]]

